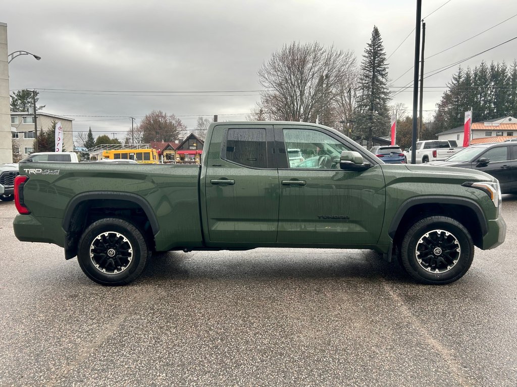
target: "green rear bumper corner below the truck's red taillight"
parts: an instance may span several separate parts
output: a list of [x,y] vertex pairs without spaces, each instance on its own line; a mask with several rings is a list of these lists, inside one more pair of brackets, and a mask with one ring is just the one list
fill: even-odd
[[44,242],[65,246],[65,231],[62,219],[38,218],[33,215],[18,214],[12,222],[14,235],[23,242]]

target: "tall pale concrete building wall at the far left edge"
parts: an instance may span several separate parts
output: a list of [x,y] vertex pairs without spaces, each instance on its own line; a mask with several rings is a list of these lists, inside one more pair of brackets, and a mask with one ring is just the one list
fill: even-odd
[[0,23],[0,164],[12,163],[7,24]]

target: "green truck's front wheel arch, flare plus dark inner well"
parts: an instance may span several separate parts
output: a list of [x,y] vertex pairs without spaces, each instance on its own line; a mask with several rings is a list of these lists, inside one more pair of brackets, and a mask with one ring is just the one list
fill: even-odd
[[411,224],[427,216],[443,215],[453,218],[468,230],[474,245],[481,247],[488,232],[488,222],[481,207],[467,198],[427,196],[405,201],[393,217],[388,235],[397,244]]

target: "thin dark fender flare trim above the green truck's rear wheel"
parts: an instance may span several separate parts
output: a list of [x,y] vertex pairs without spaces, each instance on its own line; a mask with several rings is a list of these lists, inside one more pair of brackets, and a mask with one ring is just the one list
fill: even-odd
[[153,211],[153,207],[142,197],[135,195],[134,193],[128,192],[110,192],[110,191],[94,191],[94,192],[85,192],[80,193],[75,196],[68,203],[67,208],[65,209],[65,216],[63,217],[63,230],[68,233],[70,229],[70,221],[72,219],[72,214],[75,211],[75,208],[79,204],[88,200],[125,200],[128,202],[133,202],[138,204],[144,211],[147,219],[149,219],[149,224],[151,226],[151,230],[153,230],[153,234],[156,235],[160,230],[160,226],[158,224],[158,220],[156,219],[156,215]]

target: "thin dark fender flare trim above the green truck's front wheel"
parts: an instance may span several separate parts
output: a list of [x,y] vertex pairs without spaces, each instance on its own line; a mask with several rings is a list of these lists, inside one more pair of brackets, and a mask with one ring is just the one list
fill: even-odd
[[488,222],[486,221],[486,217],[483,213],[483,210],[474,200],[470,200],[467,198],[458,198],[453,196],[425,196],[418,197],[406,200],[397,210],[397,213],[391,220],[390,227],[388,229],[388,235],[393,239],[395,234],[397,233],[397,229],[399,228],[400,221],[404,214],[408,211],[409,208],[419,205],[419,204],[457,204],[461,206],[468,207],[474,211],[476,217],[478,218],[479,225],[481,227],[481,234],[484,236],[488,232]]

